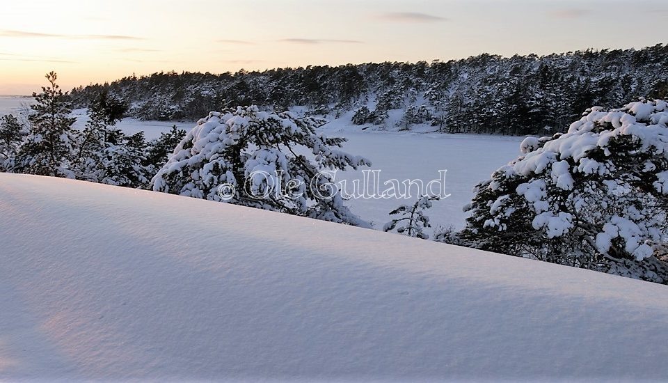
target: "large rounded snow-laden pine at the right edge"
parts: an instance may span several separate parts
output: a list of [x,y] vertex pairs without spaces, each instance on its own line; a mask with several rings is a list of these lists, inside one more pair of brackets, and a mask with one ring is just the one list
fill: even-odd
[[473,247],[668,283],[668,104],[588,109],[475,189]]

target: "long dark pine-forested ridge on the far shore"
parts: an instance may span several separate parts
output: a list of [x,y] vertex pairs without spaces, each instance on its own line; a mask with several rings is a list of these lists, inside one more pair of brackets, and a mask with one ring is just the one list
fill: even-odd
[[[390,130],[428,124],[442,132],[543,134],[564,131],[592,105],[665,97],[668,45],[221,75],[159,72],[81,86],[72,97],[84,107],[103,89],[144,120],[197,120],[237,105],[276,111],[300,105],[333,117],[354,111],[353,123]],[[388,118],[391,111],[399,118]]]

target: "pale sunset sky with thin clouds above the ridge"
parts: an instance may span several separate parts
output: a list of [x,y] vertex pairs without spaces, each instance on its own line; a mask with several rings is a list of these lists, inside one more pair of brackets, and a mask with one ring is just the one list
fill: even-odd
[[0,0],[0,94],[235,72],[668,43],[665,0]]

